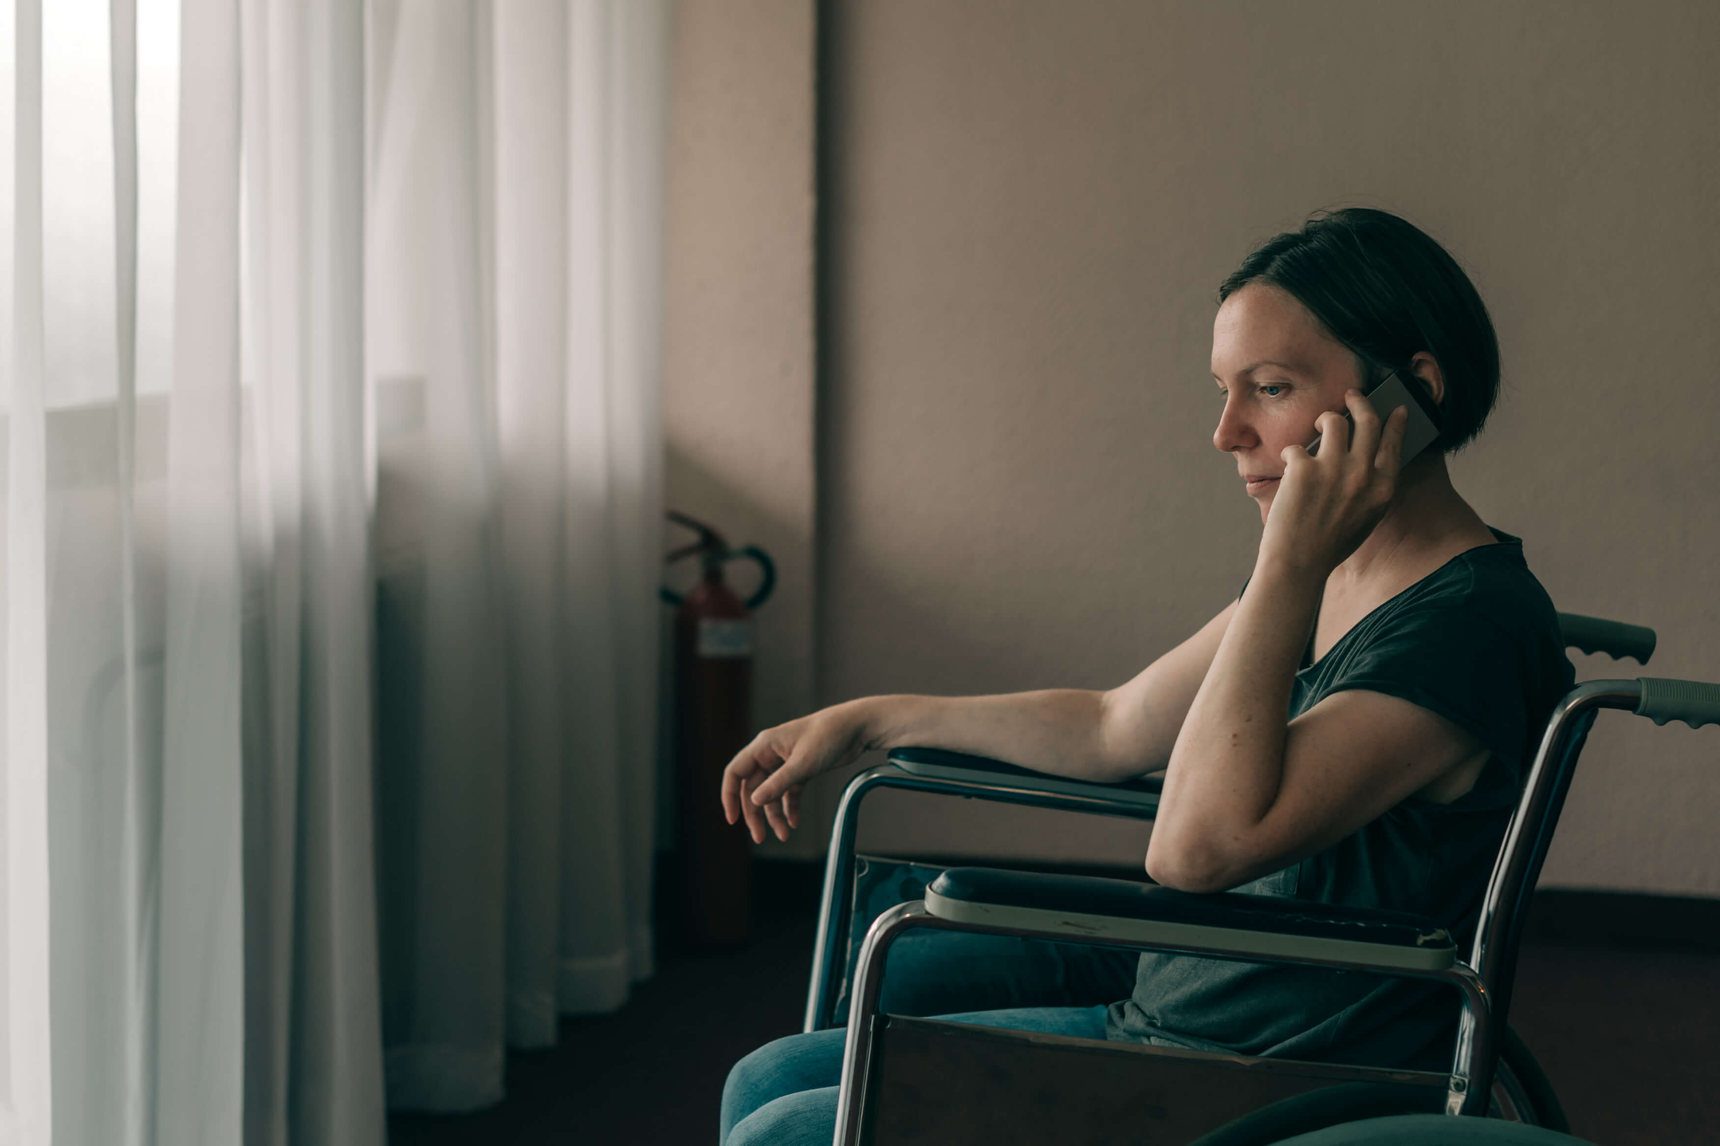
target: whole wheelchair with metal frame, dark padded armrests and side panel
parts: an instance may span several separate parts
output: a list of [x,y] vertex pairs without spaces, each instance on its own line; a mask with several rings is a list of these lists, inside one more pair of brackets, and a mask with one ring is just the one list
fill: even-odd
[[[1651,629],[1576,613],[1558,620],[1567,648],[1643,665],[1655,649]],[[1152,1143],[1264,1146],[1404,1113],[1519,1124],[1507,1134],[1569,1129],[1545,1074],[1505,1021],[1527,902],[1577,756],[1603,708],[1694,728],[1720,723],[1720,686],[1589,680],[1558,703],[1510,816],[1467,962],[1443,928],[1400,912],[1237,892],[1190,895],[1097,876],[951,868],[925,885],[922,899],[879,912],[865,904],[863,880],[857,880],[877,861],[855,854],[860,806],[875,789],[1151,820],[1161,787],[1158,777],[1089,783],[961,753],[893,751],[845,789],[826,863],[805,1029],[834,1026],[838,1000],[850,997],[836,1144],[910,1137],[941,1146],[1123,1143],[1140,1141],[1151,1127]],[[845,900],[851,912],[843,911]],[[920,928],[1440,981],[1462,998],[1452,1069],[1221,1055],[881,1014],[889,947]],[[848,974],[841,974],[845,966]],[[1405,1125],[1405,1143],[1445,1141],[1414,1137],[1426,1125]],[[1434,1132],[1440,1127],[1455,1131],[1457,1124],[1434,1124]],[[1479,1129],[1464,1124],[1465,1134]]]

